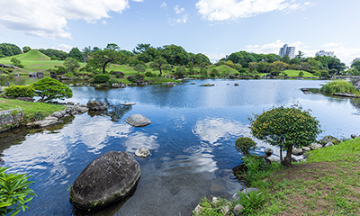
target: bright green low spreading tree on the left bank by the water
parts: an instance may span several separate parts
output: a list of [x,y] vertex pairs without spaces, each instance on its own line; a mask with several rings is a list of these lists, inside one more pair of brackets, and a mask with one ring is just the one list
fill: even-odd
[[45,77],[33,83],[35,93],[41,97],[41,101],[47,102],[54,99],[64,99],[73,96],[73,91],[65,84],[56,79]]

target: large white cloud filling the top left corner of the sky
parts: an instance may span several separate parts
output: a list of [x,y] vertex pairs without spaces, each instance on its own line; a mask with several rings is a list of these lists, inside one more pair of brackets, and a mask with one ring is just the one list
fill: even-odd
[[109,18],[109,12],[121,14],[128,0],[13,0],[0,1],[0,26],[9,30],[49,39],[71,39],[68,20],[95,23]]

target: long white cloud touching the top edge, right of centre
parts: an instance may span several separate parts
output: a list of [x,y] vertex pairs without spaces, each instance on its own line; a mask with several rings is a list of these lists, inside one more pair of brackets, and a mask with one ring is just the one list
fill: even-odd
[[237,20],[272,11],[291,13],[311,5],[310,2],[295,4],[295,0],[200,0],[196,3],[202,18],[209,21]]

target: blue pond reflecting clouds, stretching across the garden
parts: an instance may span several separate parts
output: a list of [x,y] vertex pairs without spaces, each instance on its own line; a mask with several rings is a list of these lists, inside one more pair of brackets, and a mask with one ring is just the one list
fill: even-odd
[[[89,215],[74,210],[67,188],[94,158],[110,150],[133,153],[140,147],[148,148],[151,156],[137,157],[141,177],[136,191],[126,202],[93,215],[190,215],[204,196],[230,198],[242,188],[231,170],[241,162],[234,143],[250,136],[247,118],[252,113],[299,103],[320,121],[324,130],[320,136],[349,138],[360,132],[359,101],[301,91],[326,82],[195,80],[175,86],[73,87],[69,101],[100,100],[108,111],[76,115],[40,132],[0,134],[3,165],[29,173],[35,181],[31,188],[38,197],[29,204],[30,211],[19,215]],[[206,83],[215,85],[200,86]],[[126,102],[136,104],[119,104]],[[136,113],[151,124],[134,128],[124,121]],[[259,141],[257,145],[257,154],[269,147]],[[278,148],[271,148],[279,155]]]

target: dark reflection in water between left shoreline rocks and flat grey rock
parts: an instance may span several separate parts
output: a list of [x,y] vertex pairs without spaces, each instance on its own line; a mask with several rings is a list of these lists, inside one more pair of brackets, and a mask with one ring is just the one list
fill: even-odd
[[112,121],[120,121],[122,116],[132,109],[132,106],[112,104],[106,98],[103,99],[103,103],[107,106],[106,111],[89,111],[88,114],[91,117],[94,117],[95,115],[106,115],[109,116]]

